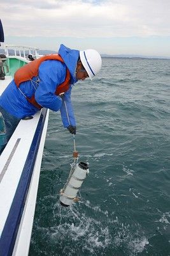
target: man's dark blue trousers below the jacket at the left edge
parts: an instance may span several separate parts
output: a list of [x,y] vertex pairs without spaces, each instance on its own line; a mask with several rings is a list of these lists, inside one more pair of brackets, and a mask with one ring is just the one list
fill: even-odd
[[3,115],[5,130],[6,130],[6,139],[0,141],[0,154],[1,154],[4,147],[8,143],[8,140],[10,140],[13,132],[15,131],[18,123],[20,122],[20,119],[15,117],[15,116],[12,116],[5,109],[3,109],[1,106],[0,106],[0,112]]

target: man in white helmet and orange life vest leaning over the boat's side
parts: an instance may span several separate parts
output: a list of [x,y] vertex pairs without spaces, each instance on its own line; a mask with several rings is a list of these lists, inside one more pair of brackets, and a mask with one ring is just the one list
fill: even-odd
[[8,140],[20,119],[32,118],[43,107],[60,110],[64,127],[76,134],[71,89],[78,80],[92,80],[101,63],[95,50],[78,51],[60,45],[59,54],[43,56],[18,69],[0,97]]

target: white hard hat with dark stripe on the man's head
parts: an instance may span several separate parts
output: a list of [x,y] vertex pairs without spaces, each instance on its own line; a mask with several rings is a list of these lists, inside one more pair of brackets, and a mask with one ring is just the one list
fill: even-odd
[[102,61],[99,52],[92,49],[80,51],[80,60],[87,71],[90,80],[92,80],[92,77],[96,76],[101,69]]

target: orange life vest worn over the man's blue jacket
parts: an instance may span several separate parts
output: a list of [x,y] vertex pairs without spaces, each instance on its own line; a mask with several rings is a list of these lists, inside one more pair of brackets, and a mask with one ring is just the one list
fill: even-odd
[[[41,64],[41,62],[45,60],[58,60],[64,63],[64,60],[62,60],[59,54],[46,55],[27,63],[23,67],[19,68],[14,74],[14,81],[15,81],[15,84],[17,84],[17,87],[20,86],[20,83],[29,81],[34,76],[38,76],[39,65]],[[69,90],[70,79],[71,79],[71,75],[67,68],[65,81],[62,84],[59,84],[58,86],[56,86],[55,95],[59,95],[60,93],[67,92],[67,90]],[[36,108],[39,108],[39,109],[43,108],[38,104],[38,102],[36,102],[34,95],[32,95],[31,98],[26,97],[26,99],[31,104],[33,104]]]

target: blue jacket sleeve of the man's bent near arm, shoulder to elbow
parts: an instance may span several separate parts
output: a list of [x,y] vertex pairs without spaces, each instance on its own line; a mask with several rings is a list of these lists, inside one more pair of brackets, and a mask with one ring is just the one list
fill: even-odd
[[58,111],[62,106],[62,99],[55,95],[57,85],[64,82],[66,65],[60,61],[47,60],[39,66],[39,86],[35,92],[35,99],[39,105]]

